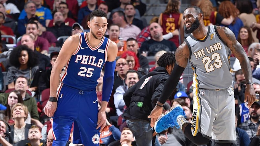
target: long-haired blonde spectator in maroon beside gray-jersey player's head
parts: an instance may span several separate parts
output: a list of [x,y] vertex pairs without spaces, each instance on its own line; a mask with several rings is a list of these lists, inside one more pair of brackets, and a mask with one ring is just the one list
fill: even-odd
[[213,4],[210,0],[201,0],[197,5],[203,12],[203,21],[205,26],[209,25],[230,25],[234,17],[231,15],[229,18],[224,18],[217,11],[214,11]]

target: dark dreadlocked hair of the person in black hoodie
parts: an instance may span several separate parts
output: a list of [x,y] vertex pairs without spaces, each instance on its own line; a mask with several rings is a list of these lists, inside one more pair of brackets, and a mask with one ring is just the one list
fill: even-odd
[[167,67],[175,64],[175,55],[173,53],[164,53],[157,61],[159,67]]

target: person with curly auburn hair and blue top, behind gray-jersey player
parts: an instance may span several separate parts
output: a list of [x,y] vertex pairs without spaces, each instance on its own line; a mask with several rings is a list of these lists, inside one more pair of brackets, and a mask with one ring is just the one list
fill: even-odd
[[221,24],[220,26],[226,26],[230,30],[232,30],[237,39],[238,34],[239,34],[239,29],[244,26],[243,21],[238,17],[239,10],[235,7],[235,5],[232,2],[223,1],[219,5],[218,13],[222,17],[227,18],[227,19],[230,16],[232,16],[234,18],[233,22],[230,25]]

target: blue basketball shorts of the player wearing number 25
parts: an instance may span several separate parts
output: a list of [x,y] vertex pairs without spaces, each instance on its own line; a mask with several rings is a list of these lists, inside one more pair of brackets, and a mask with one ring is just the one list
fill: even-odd
[[73,143],[86,146],[99,145],[97,128],[97,93],[61,85],[57,95],[57,110],[51,118],[54,140],[68,141],[74,122]]

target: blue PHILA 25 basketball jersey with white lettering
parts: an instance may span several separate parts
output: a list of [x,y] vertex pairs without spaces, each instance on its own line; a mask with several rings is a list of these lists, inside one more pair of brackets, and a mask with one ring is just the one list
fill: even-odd
[[87,33],[78,34],[80,43],[62,69],[61,82],[75,89],[92,91],[96,89],[97,79],[107,61],[109,39],[103,37],[100,44],[92,48],[87,41]]

